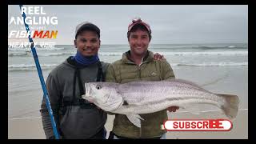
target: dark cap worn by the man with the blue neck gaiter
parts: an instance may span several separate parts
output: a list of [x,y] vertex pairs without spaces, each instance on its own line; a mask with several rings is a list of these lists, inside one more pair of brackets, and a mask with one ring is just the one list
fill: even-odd
[[93,23],[86,22],[85,24],[82,24],[82,26],[78,26],[75,39],[78,37],[78,34],[81,34],[83,31],[93,31],[98,35],[98,39],[100,38],[101,30],[98,28],[98,26],[94,25]]

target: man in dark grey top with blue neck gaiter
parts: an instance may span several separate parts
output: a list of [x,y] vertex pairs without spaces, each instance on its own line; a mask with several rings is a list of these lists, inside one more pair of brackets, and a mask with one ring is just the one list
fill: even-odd
[[[81,98],[85,82],[104,81],[109,64],[98,58],[100,43],[98,26],[81,23],[74,39],[77,54],[54,68],[47,78],[46,88],[61,138],[106,138],[106,112]],[[46,138],[54,138],[45,99],[40,111]]]

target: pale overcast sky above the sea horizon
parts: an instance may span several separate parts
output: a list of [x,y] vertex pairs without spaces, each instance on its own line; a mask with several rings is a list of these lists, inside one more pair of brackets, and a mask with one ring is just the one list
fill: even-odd
[[[127,44],[127,27],[135,17],[150,24],[151,43],[248,42],[247,5],[48,5],[43,11],[46,15],[28,16],[58,17],[57,26],[46,26],[58,30],[57,44],[73,44],[75,27],[85,21],[101,29],[102,44]],[[19,6],[8,6],[8,24],[17,16],[21,17]],[[8,33],[20,27],[9,25]]]

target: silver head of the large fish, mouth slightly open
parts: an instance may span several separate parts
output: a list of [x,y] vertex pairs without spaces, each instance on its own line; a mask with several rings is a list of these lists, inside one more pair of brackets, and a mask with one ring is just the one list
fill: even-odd
[[86,94],[82,98],[93,102],[102,110],[115,110],[122,104],[122,95],[118,93],[118,83],[89,82],[85,84]]

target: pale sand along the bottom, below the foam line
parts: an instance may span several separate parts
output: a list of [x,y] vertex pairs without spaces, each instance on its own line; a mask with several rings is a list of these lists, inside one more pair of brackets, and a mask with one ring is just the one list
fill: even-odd
[[[169,113],[169,118],[226,118],[221,111],[209,111],[201,114],[190,112]],[[114,116],[108,115],[106,122],[107,136],[112,130]],[[248,110],[239,110],[233,121],[233,129],[222,132],[167,132],[167,139],[247,139],[248,138]],[[45,139],[41,118],[11,119],[8,121],[9,139]]]

